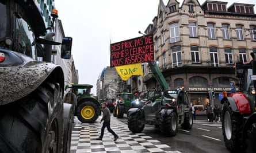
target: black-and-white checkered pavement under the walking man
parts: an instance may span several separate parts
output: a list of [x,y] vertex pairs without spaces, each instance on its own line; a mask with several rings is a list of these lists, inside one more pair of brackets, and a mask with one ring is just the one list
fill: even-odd
[[111,116],[111,128],[119,139],[113,141],[113,135],[105,129],[103,140],[96,140],[101,132],[99,123],[102,116],[98,117],[95,123],[81,123],[77,117],[74,118],[74,128],[72,129],[71,153],[78,152],[108,152],[108,153],[132,153],[132,152],[169,152],[181,153],[172,150],[166,144],[158,140],[139,133],[133,134],[128,129],[128,125]]

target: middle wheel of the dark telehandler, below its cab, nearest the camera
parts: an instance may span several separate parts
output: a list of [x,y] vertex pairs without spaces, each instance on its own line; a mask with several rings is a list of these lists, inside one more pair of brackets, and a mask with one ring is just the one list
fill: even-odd
[[161,116],[160,130],[166,136],[175,136],[177,132],[177,115],[171,112],[169,116]]

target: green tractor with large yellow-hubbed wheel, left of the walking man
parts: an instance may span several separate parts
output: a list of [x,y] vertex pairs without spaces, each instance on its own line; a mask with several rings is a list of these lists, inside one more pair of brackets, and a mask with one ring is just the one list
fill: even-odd
[[[72,100],[75,105],[75,115],[82,123],[94,123],[101,114],[100,103],[93,97],[90,92],[93,85],[90,84],[71,84],[71,93],[77,97],[77,103]],[[66,94],[68,97],[70,93]]]

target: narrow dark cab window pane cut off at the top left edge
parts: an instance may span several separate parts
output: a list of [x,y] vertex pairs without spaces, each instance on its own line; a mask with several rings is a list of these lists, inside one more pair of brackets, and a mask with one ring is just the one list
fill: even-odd
[[0,2],[0,40],[3,40],[6,35],[7,28],[7,13],[6,13],[6,5],[3,2]]

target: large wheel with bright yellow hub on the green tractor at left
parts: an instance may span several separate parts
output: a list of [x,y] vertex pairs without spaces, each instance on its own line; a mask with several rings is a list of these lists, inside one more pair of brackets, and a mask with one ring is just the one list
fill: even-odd
[[92,101],[85,101],[77,108],[77,117],[82,123],[94,123],[100,115],[100,108]]

